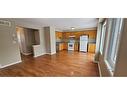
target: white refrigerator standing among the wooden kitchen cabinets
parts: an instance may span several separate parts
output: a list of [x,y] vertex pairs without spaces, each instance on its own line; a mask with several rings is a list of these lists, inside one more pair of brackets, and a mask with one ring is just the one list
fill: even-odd
[[87,35],[83,35],[80,36],[80,47],[79,47],[80,51],[83,52],[87,52],[87,48],[88,48],[88,36]]

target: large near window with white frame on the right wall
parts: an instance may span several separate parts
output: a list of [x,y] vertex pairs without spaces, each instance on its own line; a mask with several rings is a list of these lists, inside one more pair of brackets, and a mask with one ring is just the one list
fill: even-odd
[[112,20],[111,31],[109,31],[110,32],[109,45],[106,56],[107,64],[110,66],[112,70],[114,69],[114,65],[116,63],[121,27],[122,27],[122,19],[115,18]]

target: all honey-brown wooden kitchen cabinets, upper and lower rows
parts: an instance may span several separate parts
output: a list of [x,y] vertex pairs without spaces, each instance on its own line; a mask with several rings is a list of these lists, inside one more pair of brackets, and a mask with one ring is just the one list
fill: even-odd
[[[94,41],[94,40],[96,40],[96,33],[97,33],[96,30],[84,30],[84,31],[74,31],[74,32],[57,31],[56,32],[56,39],[58,40],[58,42],[61,42],[61,43],[59,43],[60,45],[59,45],[58,50],[68,50],[68,42],[69,42],[70,36],[75,36],[76,42],[80,41],[81,35],[88,35],[89,40]],[[75,45],[74,45],[75,51],[79,50],[79,45],[80,45],[79,43],[75,43]],[[88,44],[88,52],[95,53],[95,48],[96,48],[95,43],[89,43]]]

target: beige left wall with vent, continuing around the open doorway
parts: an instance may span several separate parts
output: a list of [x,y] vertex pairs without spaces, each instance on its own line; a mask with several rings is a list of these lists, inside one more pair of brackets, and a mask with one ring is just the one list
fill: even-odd
[[20,50],[18,40],[13,44],[12,35],[16,35],[16,26],[38,29],[40,36],[40,45],[34,51],[35,57],[46,54],[45,39],[44,39],[44,29],[38,25],[32,25],[28,23],[18,22],[15,23],[13,19],[9,20],[12,23],[11,27],[5,27],[0,25],[0,66],[5,67],[13,63],[21,62]]

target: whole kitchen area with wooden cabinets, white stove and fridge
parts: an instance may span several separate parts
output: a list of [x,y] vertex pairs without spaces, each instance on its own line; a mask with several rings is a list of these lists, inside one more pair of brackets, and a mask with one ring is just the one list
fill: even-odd
[[[97,30],[85,29],[81,31],[56,31],[56,51],[84,51],[89,53],[95,53],[96,48],[96,34]],[[88,37],[86,46],[81,45],[81,38]],[[81,47],[85,47],[86,50],[81,50]]]

